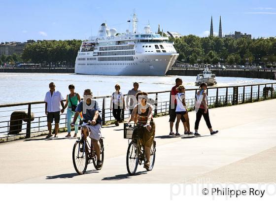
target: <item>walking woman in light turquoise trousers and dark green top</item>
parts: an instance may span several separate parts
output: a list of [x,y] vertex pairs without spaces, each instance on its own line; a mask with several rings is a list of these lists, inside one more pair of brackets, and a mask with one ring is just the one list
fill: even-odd
[[[75,109],[78,105],[78,103],[80,102],[80,96],[78,93],[75,93],[75,86],[73,84],[69,85],[69,91],[70,94],[66,97],[66,104],[64,106],[64,108],[67,108],[67,132],[68,135],[66,135],[66,137],[70,137],[71,136],[71,119],[72,117],[75,115]],[[75,122],[75,135],[74,137],[77,136],[78,133],[78,123],[79,123],[79,116]]]

